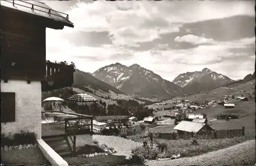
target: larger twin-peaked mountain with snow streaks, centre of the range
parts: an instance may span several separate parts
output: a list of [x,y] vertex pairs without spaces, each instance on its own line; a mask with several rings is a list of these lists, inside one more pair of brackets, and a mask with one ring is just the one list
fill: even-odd
[[183,88],[137,64],[129,67],[111,64],[98,69],[93,76],[126,94],[140,97],[167,99],[184,94]]

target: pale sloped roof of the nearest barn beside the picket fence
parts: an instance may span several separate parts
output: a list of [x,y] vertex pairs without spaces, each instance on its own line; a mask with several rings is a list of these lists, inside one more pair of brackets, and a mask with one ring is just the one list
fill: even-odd
[[174,127],[174,129],[187,132],[198,132],[205,125],[205,123],[181,121],[177,126]]

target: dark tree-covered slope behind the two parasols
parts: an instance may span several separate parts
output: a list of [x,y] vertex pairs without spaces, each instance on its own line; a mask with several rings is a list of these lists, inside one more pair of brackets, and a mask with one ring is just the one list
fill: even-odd
[[[89,88],[89,91],[92,89]],[[152,110],[142,105],[143,102],[135,100],[133,98],[119,98],[119,99],[105,99],[98,97],[100,91],[94,91],[93,93],[83,91],[78,88],[67,87],[56,89],[53,91],[42,92],[42,110],[52,110],[52,102],[43,102],[44,99],[48,97],[59,97],[66,100],[68,97],[74,94],[87,93],[98,101],[96,103],[92,102],[56,102],[54,110],[59,110],[59,105],[62,106],[65,112],[76,112],[79,114],[92,115],[92,116],[105,116],[105,115],[134,115],[144,118],[144,114],[150,114]],[[111,94],[108,94],[111,95]],[[149,115],[147,115],[149,116]]]

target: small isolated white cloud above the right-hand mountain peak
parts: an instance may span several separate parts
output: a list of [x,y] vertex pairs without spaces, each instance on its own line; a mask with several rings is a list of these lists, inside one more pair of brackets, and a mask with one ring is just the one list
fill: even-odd
[[214,42],[213,39],[206,39],[204,37],[195,36],[195,35],[184,35],[184,36],[177,36],[174,41],[181,43],[181,42],[187,42],[191,44],[209,44]]

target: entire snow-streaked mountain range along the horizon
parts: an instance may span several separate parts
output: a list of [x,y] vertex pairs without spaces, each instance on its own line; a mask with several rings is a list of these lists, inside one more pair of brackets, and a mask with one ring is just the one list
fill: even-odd
[[104,66],[94,73],[74,72],[73,87],[100,90],[105,93],[129,94],[144,98],[169,99],[184,94],[207,92],[222,86],[240,84],[255,78],[255,72],[234,81],[229,77],[204,68],[201,71],[179,74],[172,82],[138,64],[120,63]]

